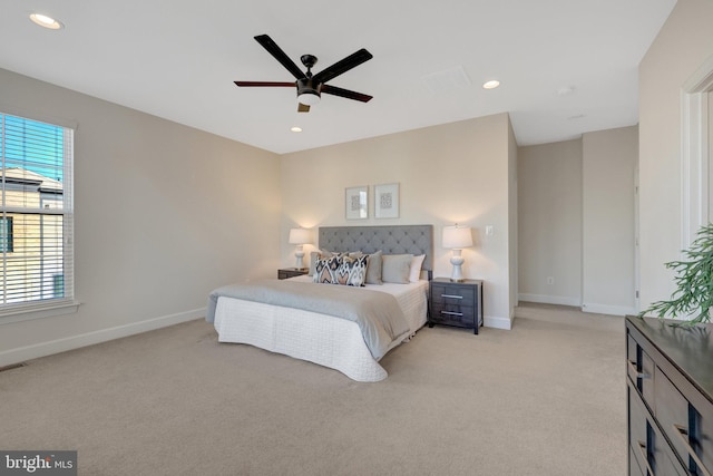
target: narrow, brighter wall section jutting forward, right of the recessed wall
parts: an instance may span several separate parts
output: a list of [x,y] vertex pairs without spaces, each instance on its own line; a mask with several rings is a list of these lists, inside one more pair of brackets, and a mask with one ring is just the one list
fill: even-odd
[[582,309],[633,314],[638,128],[588,133],[582,143]]

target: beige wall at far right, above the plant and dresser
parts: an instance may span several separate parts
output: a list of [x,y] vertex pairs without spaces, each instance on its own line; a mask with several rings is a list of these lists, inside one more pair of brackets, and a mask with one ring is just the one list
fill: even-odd
[[682,249],[682,87],[713,55],[713,2],[678,0],[639,69],[641,307],[667,299]]

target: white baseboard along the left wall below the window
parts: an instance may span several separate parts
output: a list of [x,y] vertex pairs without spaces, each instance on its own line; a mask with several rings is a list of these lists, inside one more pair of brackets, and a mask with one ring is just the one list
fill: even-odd
[[206,308],[195,309],[193,311],[179,312],[177,314],[164,315],[160,318],[148,319],[146,321],[133,322],[130,324],[117,326],[115,328],[101,329],[79,336],[6,350],[0,352],[0,367],[79,349],[95,343],[107,342],[109,340],[134,336],[141,332],[153,331],[155,329],[199,319],[205,317],[205,314]]

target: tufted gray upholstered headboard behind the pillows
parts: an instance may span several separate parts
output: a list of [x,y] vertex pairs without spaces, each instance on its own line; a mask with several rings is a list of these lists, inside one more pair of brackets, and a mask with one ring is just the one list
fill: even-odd
[[433,225],[322,226],[320,250],[383,254],[426,254],[422,269],[433,270]]

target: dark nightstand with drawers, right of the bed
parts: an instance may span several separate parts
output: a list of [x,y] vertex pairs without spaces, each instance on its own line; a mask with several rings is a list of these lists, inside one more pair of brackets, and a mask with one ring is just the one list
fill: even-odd
[[482,326],[482,281],[452,282],[449,278],[431,281],[428,327],[433,324],[472,329]]

